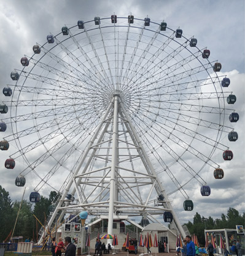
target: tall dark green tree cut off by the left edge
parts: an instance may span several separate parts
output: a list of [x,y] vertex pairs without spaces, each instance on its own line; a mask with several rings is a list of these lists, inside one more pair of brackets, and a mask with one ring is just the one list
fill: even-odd
[[3,241],[9,235],[13,228],[12,222],[10,222],[10,216],[12,216],[12,201],[9,196],[9,192],[4,190],[0,185],[0,241]]

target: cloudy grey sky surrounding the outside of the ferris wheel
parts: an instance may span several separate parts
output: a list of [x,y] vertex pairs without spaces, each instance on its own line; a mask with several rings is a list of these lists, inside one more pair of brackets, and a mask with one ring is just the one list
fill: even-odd
[[[240,120],[236,131],[239,140],[233,153],[235,158],[227,164],[227,171],[222,183],[216,180],[209,184],[216,186],[216,193],[208,198],[202,198],[200,193],[194,193],[195,209],[193,212],[182,211],[182,200],[176,199],[174,207],[181,222],[193,220],[195,212],[208,217],[220,218],[226,214],[229,207],[234,207],[242,214],[245,211],[244,188],[244,1],[243,0],[138,0],[138,1],[4,1],[0,0],[0,84],[3,88],[10,81],[10,72],[20,68],[20,58],[28,55],[33,45],[44,44],[46,36],[60,33],[61,26],[76,25],[77,20],[93,20],[117,14],[126,17],[145,18],[147,15],[155,22],[166,20],[171,28],[179,26],[185,35],[198,38],[200,48],[208,47],[212,60],[222,63],[222,73],[228,74],[232,81],[233,94],[238,96],[235,109]],[[1,102],[6,100],[0,95]],[[2,114],[1,114],[2,115]],[[14,146],[14,145],[12,145]],[[10,193],[12,200],[20,200],[20,190],[14,185],[13,176],[18,170],[8,170],[4,161],[9,153],[1,152],[0,185]],[[193,189],[193,190],[192,190]],[[25,198],[28,198],[26,194]],[[241,224],[241,223],[238,223]]]

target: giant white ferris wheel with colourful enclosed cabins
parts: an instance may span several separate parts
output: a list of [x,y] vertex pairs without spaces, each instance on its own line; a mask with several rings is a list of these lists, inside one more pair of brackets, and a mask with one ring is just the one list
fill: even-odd
[[[12,134],[0,146],[17,145],[6,167],[22,165],[15,184],[33,185],[31,201],[55,190],[66,202],[59,209],[84,205],[98,214],[99,202],[109,197],[114,158],[114,198],[123,205],[117,204],[117,214],[131,211],[154,220],[159,204],[173,213],[166,198],[175,194],[192,210],[193,183],[209,196],[206,173],[224,177],[222,161],[233,158],[239,114],[233,110],[236,96],[227,89],[232,81],[219,74],[221,63],[184,32],[149,17],[95,17],[64,25],[21,58],[23,68],[12,71],[12,83],[3,89],[1,130]],[[152,208],[129,211],[126,190]],[[100,210],[106,214],[109,208]]]

